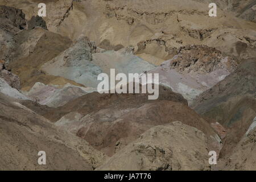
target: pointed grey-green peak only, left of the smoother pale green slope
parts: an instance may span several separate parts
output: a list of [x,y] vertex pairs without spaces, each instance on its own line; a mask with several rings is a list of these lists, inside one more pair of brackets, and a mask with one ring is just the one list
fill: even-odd
[[101,68],[92,63],[92,52],[96,46],[85,36],[80,38],[70,48],[42,66],[49,75],[61,76],[76,81],[85,86],[95,87]]

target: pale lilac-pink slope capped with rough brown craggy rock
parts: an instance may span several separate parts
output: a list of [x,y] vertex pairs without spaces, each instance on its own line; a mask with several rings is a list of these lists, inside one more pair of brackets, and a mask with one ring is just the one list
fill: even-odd
[[223,80],[236,67],[236,61],[215,48],[185,46],[173,59],[148,73],[159,73],[159,84],[182,94],[191,104],[196,96]]

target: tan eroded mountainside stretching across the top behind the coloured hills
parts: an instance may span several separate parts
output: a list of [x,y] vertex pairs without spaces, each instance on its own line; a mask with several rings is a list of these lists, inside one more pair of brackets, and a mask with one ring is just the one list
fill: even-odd
[[[72,40],[84,34],[107,50],[117,51],[131,45],[137,47],[137,53],[168,60],[181,46],[206,44],[229,55],[255,57],[251,52],[255,49],[256,24],[236,17],[254,21],[255,2],[216,1],[218,13],[214,18],[208,16],[209,3],[208,0],[163,0],[160,3],[150,0],[55,0],[46,2],[45,19],[50,31]],[[38,13],[38,2],[32,0],[9,0],[1,4],[22,9],[27,19]],[[243,55],[236,53],[239,41],[251,47]]]

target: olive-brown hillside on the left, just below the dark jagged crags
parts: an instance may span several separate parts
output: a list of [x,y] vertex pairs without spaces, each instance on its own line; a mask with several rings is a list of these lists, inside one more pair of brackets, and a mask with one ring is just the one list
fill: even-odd
[[16,57],[10,61],[7,68],[19,76],[22,90],[28,91],[36,82],[82,86],[63,77],[47,75],[40,70],[44,63],[65,51],[71,45],[71,40],[40,27],[20,32],[15,36],[15,40],[19,43]]

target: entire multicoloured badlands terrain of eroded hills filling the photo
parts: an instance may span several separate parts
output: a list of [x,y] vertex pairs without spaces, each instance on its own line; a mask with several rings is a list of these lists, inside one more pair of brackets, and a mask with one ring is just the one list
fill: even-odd
[[256,170],[255,0],[42,2],[0,0],[0,170]]

